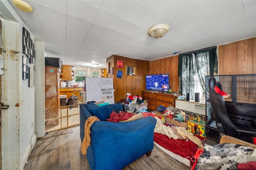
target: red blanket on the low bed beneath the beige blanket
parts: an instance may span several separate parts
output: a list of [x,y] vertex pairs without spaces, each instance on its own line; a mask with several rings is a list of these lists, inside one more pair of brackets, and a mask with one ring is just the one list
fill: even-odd
[[[196,137],[198,137],[201,141],[205,140],[203,137]],[[192,141],[170,139],[166,135],[162,135],[160,133],[154,133],[154,141],[165,149],[168,149],[171,152],[190,160],[191,166],[194,164],[194,155],[197,151],[197,145]]]

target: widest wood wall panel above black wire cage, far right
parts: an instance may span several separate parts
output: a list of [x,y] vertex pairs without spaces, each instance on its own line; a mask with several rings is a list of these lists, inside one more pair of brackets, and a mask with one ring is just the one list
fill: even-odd
[[236,74],[252,74],[252,39],[236,42]]

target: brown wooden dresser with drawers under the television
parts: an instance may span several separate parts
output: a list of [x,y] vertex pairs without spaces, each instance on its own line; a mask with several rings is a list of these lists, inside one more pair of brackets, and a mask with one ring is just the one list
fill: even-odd
[[143,91],[143,99],[148,100],[148,110],[156,110],[160,105],[164,107],[175,107],[177,96],[170,93],[159,93],[155,91]]

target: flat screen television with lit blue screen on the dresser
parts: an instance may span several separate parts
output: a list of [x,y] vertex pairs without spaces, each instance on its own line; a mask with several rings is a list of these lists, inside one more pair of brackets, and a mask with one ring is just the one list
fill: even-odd
[[146,75],[146,90],[169,90],[169,74]]

